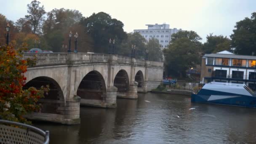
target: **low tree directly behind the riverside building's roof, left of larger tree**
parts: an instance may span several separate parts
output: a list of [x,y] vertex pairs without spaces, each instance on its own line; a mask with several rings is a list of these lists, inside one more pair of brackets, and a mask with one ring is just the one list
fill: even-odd
[[223,35],[214,35],[211,33],[206,37],[207,41],[203,44],[204,53],[216,53],[219,51],[229,50],[231,40]]

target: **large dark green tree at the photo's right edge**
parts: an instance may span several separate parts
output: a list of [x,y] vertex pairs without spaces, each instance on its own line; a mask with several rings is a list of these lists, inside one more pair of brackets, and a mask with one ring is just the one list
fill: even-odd
[[251,55],[256,53],[256,12],[252,13],[251,19],[245,18],[238,21],[230,35],[232,47],[236,48],[236,53]]

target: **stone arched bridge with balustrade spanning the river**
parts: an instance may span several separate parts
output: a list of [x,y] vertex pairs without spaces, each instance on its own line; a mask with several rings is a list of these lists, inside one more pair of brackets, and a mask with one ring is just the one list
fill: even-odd
[[37,57],[29,67],[24,89],[50,85],[40,99],[40,112],[27,117],[57,123],[80,123],[80,105],[117,107],[116,98],[137,99],[137,92],[157,88],[163,63],[95,53],[25,53]]

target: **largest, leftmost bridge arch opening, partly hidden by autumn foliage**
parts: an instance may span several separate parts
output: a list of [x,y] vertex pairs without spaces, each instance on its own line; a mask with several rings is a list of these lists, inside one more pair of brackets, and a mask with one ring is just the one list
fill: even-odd
[[61,114],[59,107],[65,105],[65,99],[63,91],[60,85],[51,77],[35,77],[29,80],[23,87],[28,89],[29,87],[35,87],[40,89],[41,86],[49,85],[50,91],[44,93],[44,98],[38,100],[38,104],[41,104],[40,113]]

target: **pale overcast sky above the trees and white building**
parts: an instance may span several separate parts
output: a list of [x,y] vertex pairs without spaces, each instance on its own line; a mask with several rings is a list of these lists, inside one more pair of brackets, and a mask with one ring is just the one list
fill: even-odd
[[[124,30],[147,29],[145,24],[170,24],[193,30],[205,42],[209,33],[232,34],[235,23],[256,12],[256,0],[39,0],[45,11],[76,9],[83,16],[103,11],[124,23]],[[0,13],[16,21],[27,14],[31,0],[0,0]]]

